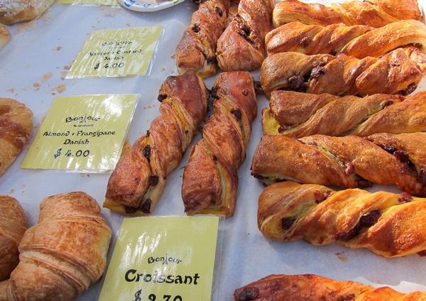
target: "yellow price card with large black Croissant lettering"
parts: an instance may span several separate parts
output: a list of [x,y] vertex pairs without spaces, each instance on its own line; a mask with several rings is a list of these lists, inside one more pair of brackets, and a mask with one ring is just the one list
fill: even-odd
[[126,218],[99,301],[208,301],[218,217]]

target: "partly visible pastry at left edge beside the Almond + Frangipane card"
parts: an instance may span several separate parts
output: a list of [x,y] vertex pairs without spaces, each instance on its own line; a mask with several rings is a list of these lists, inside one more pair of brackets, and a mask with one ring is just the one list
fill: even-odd
[[14,99],[0,98],[0,175],[21,153],[33,131],[33,113]]

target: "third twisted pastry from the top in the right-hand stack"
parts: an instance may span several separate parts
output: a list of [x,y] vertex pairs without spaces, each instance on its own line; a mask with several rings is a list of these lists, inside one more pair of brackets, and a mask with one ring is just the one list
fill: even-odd
[[418,48],[398,48],[381,58],[347,55],[276,53],[263,61],[261,84],[273,90],[314,94],[410,94],[426,73],[426,54]]

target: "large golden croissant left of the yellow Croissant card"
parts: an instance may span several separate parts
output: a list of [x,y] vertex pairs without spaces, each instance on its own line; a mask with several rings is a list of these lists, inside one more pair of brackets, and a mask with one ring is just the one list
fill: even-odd
[[19,244],[18,266],[0,283],[0,300],[73,300],[99,280],[111,239],[100,212],[84,192],[46,197]]

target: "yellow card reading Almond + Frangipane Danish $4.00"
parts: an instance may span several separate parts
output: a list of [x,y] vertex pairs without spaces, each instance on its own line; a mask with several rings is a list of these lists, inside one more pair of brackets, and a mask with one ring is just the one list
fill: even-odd
[[58,97],[21,167],[114,170],[137,102],[137,94]]

